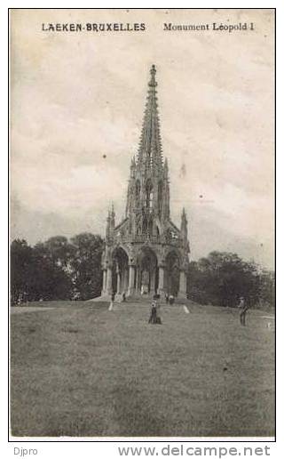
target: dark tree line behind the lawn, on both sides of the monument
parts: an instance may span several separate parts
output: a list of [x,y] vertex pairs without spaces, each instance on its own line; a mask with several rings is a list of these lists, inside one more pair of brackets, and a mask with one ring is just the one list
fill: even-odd
[[[29,246],[24,239],[11,245],[12,303],[41,300],[88,300],[102,286],[101,256],[104,240],[82,233],[74,238],[56,236]],[[194,302],[233,307],[243,296],[250,306],[275,304],[274,273],[245,262],[237,254],[211,252],[190,262],[187,295]]]

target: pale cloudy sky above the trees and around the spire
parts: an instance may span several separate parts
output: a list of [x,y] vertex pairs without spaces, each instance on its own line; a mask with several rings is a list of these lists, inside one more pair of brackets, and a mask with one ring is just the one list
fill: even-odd
[[[145,22],[143,32],[43,32],[42,23]],[[165,31],[241,24],[254,31]],[[273,263],[270,10],[12,12],[12,238],[104,233],[125,208],[149,68],[157,68],[172,220],[192,259],[212,250]]]

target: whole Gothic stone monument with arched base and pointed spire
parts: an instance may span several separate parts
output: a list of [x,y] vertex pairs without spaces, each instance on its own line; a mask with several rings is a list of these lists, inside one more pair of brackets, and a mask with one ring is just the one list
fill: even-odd
[[170,220],[170,182],[156,96],[156,69],[151,68],[146,110],[137,157],[130,165],[126,212],[115,225],[114,207],[106,221],[102,257],[102,296],[173,294],[186,296],[189,243],[185,209],[180,229]]

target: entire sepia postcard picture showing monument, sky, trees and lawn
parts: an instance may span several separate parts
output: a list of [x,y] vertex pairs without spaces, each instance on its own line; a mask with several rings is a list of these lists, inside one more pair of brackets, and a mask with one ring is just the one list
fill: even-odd
[[11,439],[275,438],[274,9],[11,9]]

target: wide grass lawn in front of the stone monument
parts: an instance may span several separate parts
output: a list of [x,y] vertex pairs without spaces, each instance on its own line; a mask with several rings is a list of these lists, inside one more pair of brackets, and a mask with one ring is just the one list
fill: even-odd
[[[42,302],[12,308],[13,436],[273,436],[267,313]],[[264,317],[262,317],[264,316]]]

